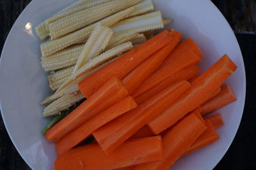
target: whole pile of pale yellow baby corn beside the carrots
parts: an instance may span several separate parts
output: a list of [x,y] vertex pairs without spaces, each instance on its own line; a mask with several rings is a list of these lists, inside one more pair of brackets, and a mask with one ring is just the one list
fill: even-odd
[[151,0],[79,0],[36,27],[42,67],[54,90],[41,104],[44,117],[81,101],[79,81],[145,42],[172,20],[154,11]]

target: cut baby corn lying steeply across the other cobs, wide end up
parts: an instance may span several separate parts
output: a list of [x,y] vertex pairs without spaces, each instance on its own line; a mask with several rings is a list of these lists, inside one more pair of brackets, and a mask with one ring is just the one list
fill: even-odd
[[93,29],[88,41],[85,43],[84,48],[79,56],[76,66],[74,67],[73,73],[76,73],[78,69],[84,66],[88,60],[93,59],[102,52],[108,45],[109,39],[113,35],[113,31],[102,25],[99,22],[95,29]]

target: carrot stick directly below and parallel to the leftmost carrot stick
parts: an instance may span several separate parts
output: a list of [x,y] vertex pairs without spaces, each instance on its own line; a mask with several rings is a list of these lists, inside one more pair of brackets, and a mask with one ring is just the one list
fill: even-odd
[[99,115],[96,115],[92,119],[88,120],[88,122],[78,127],[76,130],[61,138],[60,141],[58,141],[56,144],[56,151],[58,155],[67,152],[67,150],[70,150],[77,144],[81,143],[81,141],[88,138],[93,131],[102,125],[107,124],[116,117],[119,117],[125,112],[136,108],[136,106],[138,105],[130,96],[122,99],[110,108],[102,111],[99,113]]

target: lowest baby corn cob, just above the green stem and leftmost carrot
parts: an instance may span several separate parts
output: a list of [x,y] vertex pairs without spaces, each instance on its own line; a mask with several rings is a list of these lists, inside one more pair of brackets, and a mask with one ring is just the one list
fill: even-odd
[[57,115],[58,113],[60,113],[60,111],[67,110],[70,106],[81,101],[81,99],[84,99],[84,96],[83,96],[83,94],[81,94],[81,92],[67,94],[63,97],[60,97],[60,99],[57,99],[56,101],[52,102],[51,104],[49,104],[44,109],[43,115],[44,115],[44,117]]

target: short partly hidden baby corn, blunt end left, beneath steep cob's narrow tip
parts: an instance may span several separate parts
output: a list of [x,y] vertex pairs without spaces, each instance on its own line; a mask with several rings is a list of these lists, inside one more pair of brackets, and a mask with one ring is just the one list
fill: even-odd
[[58,80],[61,80],[63,78],[70,76],[73,70],[74,70],[74,66],[70,66],[65,69],[56,71],[55,73],[48,76],[49,83],[54,83]]

